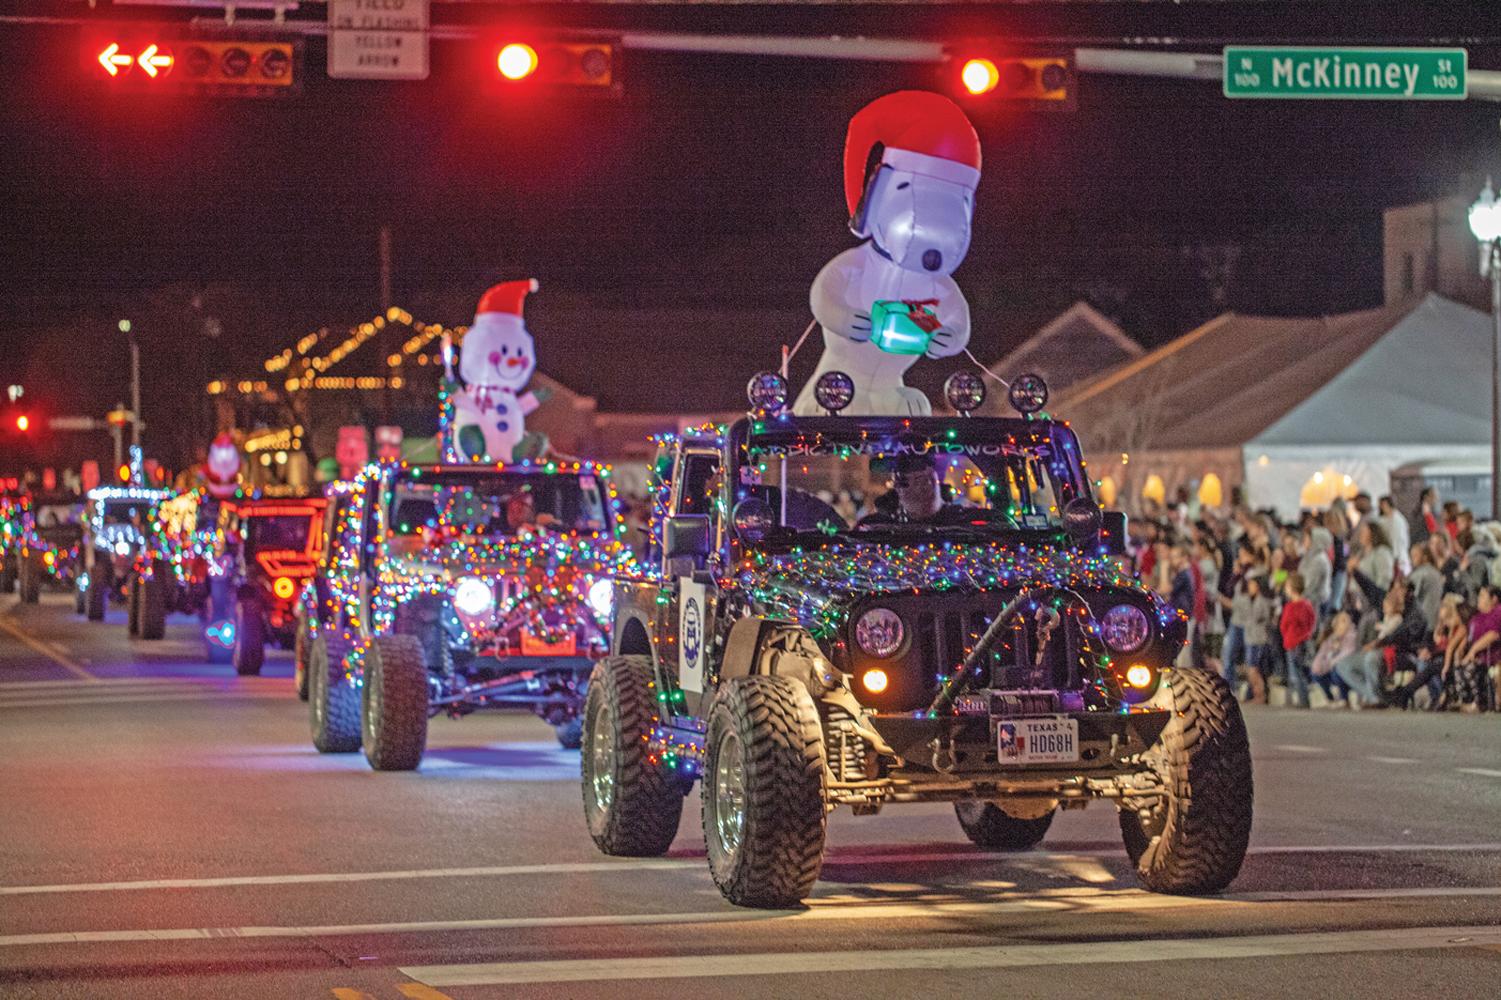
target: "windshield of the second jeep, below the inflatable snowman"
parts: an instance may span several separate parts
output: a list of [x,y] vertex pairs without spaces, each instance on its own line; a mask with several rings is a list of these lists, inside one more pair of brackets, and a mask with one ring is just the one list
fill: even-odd
[[605,500],[591,473],[404,470],[392,491],[393,538],[431,541],[512,538],[522,530],[606,530]]

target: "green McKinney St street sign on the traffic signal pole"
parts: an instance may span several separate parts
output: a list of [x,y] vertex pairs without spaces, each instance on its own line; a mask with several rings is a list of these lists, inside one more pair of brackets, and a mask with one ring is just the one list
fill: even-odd
[[1303,101],[1463,101],[1462,48],[1225,47],[1225,96]]

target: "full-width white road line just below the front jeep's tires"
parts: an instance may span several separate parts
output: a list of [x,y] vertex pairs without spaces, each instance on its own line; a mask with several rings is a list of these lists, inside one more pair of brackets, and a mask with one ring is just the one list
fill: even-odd
[[[1340,902],[1364,899],[1433,899],[1501,896],[1501,886],[1423,889],[1315,889],[1258,892],[1225,896],[1171,896],[1144,889],[1042,889],[1001,893],[994,899],[955,899],[952,893],[883,902],[868,899],[809,899],[806,910],[708,910],[702,913],[599,913],[582,916],[476,917],[465,920],[401,920],[390,923],[329,923],[312,926],[207,926],[138,928],[113,931],[45,931],[0,934],[0,947],[54,944],[123,944],[141,941],[191,941],[269,937],[356,937],[371,934],[447,934],[455,931],[516,931],[597,926],[674,926],[705,923],[860,923],[875,920],[946,920],[1037,913],[1142,913],[1154,910],[1229,908],[1250,902]],[[1501,928],[1496,928],[1501,934]],[[1498,938],[1501,940],[1501,938]],[[405,970],[404,970],[405,971]],[[407,973],[411,974],[410,971]],[[413,976],[413,979],[420,979]],[[428,985],[446,985],[428,982]],[[452,985],[452,983],[447,983]]]

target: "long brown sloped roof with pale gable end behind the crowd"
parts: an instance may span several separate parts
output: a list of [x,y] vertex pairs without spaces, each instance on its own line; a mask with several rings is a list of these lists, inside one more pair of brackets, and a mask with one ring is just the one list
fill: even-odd
[[1318,318],[1226,312],[1054,410],[1123,450],[1489,440],[1487,330],[1436,294]]

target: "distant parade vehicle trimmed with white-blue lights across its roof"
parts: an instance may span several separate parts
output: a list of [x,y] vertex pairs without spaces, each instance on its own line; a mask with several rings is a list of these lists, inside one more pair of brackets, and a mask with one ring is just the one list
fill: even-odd
[[[81,613],[90,622],[104,620],[111,601],[134,596],[156,506],[171,495],[170,489],[141,485],[95,486],[89,491],[78,592],[83,595]],[[138,611],[138,605],[131,604]]]

